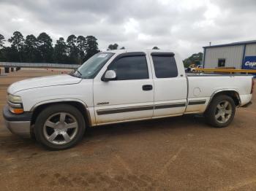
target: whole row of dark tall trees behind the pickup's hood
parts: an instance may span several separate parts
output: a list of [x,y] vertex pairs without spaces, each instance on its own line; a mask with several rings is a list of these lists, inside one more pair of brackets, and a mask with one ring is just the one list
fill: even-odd
[[[4,46],[9,42],[10,46]],[[15,31],[10,39],[0,34],[0,61],[26,63],[71,63],[81,64],[99,52],[94,36],[69,35],[67,40],[60,37],[53,45],[53,39],[42,32],[39,36]]]

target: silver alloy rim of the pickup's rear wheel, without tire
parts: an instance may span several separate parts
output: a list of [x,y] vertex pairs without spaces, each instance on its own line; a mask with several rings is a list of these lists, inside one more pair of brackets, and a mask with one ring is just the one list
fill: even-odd
[[221,101],[215,111],[215,119],[219,123],[227,122],[232,115],[232,106],[228,101]]

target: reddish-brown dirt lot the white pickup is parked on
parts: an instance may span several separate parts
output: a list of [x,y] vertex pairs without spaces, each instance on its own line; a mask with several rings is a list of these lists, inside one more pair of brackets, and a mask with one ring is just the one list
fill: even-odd
[[[0,107],[12,82],[57,73],[0,77]],[[108,125],[60,152],[12,135],[1,116],[0,190],[256,190],[256,104],[228,128],[193,116]]]

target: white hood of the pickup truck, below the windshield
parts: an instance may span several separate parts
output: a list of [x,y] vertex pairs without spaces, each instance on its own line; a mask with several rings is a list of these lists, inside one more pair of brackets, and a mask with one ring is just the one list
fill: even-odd
[[8,88],[8,93],[17,93],[21,90],[28,90],[32,88],[48,87],[55,85],[72,85],[77,84],[82,79],[78,77],[72,77],[68,74],[55,75],[49,77],[36,77],[31,79],[24,79],[19,82],[15,82]]

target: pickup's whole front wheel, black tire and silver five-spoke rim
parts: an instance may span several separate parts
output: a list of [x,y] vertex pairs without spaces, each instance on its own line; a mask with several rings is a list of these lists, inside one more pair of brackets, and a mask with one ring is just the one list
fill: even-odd
[[35,136],[40,144],[52,150],[68,149],[83,138],[86,123],[74,106],[56,104],[42,110],[35,122]]

